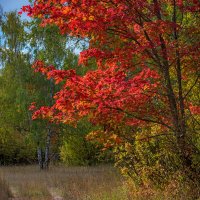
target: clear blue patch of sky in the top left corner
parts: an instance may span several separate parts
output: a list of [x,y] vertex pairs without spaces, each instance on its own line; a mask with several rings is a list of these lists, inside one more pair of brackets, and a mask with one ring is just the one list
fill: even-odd
[[[4,12],[10,12],[17,10],[20,11],[20,8],[24,5],[28,5],[28,0],[0,0],[0,5],[3,8]],[[22,18],[27,18],[25,14],[22,15]]]

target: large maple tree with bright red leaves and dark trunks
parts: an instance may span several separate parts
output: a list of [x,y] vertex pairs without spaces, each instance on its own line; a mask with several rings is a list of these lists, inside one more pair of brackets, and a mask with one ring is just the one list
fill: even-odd
[[53,106],[37,110],[33,103],[33,118],[75,124],[88,116],[106,130],[122,122],[158,124],[174,133],[184,164],[191,166],[188,119],[200,110],[198,101],[190,101],[199,84],[199,10],[196,0],[35,0],[24,6],[42,26],[88,38],[79,64],[87,67],[92,59],[97,65],[80,76],[36,61],[35,71],[62,83],[62,89]]

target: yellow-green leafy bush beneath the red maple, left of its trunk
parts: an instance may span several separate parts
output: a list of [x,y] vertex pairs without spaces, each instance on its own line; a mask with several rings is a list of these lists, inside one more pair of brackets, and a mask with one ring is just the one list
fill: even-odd
[[[192,173],[182,165],[175,136],[159,132],[159,126],[149,126],[134,131],[132,138],[124,138],[113,148],[116,166],[139,186],[164,188],[172,180],[181,184],[190,181]],[[194,155],[193,165],[197,165],[198,159],[199,156]],[[197,166],[194,169],[198,171]],[[198,178],[193,178],[194,184],[198,184],[195,182]]]

